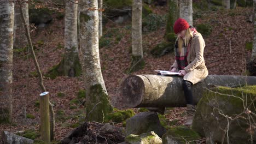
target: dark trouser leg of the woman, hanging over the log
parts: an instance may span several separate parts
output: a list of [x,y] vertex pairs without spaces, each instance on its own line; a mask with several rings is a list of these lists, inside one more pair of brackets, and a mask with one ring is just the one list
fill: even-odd
[[187,101],[187,104],[191,105],[193,105],[193,92],[191,88],[192,85],[193,83],[190,81],[183,80],[182,82],[185,99]]

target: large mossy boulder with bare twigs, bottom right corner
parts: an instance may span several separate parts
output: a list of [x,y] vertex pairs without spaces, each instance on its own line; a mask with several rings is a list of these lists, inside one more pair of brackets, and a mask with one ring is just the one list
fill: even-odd
[[208,143],[256,143],[255,105],[256,85],[211,88],[196,106],[192,129]]

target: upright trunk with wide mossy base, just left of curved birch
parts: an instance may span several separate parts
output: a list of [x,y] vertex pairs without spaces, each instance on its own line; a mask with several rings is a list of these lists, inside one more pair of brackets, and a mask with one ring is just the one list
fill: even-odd
[[[77,3],[78,1],[74,1]],[[80,63],[78,57],[77,14],[78,4],[66,2],[65,8],[65,55],[63,57],[63,72],[66,76],[79,76]]]

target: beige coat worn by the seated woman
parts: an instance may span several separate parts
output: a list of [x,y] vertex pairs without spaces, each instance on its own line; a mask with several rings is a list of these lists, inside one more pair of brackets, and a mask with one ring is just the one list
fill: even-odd
[[[183,76],[184,80],[192,82],[193,85],[202,81],[208,75],[208,69],[205,66],[205,59],[203,58],[204,48],[205,40],[203,40],[200,33],[196,33],[191,41],[191,46],[187,57],[188,65],[184,68],[187,74]],[[178,69],[178,63],[176,60],[170,69],[173,67]]]

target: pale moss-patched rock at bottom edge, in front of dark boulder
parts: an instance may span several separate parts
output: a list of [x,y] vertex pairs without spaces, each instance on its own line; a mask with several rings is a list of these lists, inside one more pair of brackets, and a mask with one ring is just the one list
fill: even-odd
[[161,138],[154,133],[154,131],[149,131],[148,133],[143,133],[141,135],[130,134],[125,137],[125,142],[129,144],[161,144]]

